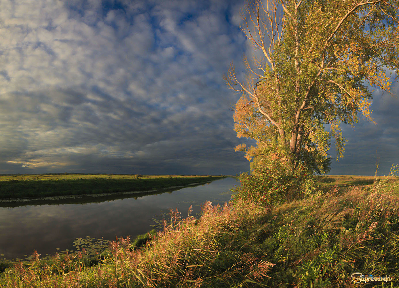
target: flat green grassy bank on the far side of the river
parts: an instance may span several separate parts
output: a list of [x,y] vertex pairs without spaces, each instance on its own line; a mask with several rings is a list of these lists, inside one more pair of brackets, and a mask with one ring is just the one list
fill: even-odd
[[141,175],[28,175],[1,176],[0,198],[45,197],[143,191],[192,183],[204,183],[226,176],[141,176]]

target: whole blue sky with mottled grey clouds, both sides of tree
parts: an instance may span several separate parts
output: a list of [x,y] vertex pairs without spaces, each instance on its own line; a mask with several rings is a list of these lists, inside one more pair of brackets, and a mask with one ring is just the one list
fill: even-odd
[[[242,5],[0,1],[0,173],[248,171],[222,79],[251,51]],[[377,126],[344,129],[331,174],[373,174],[376,149],[381,174],[399,163],[398,109],[375,93]]]

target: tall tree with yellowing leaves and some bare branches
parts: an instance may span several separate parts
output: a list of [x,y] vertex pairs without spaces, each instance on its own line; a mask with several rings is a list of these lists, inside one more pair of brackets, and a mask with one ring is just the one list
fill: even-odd
[[325,172],[330,139],[337,160],[343,156],[340,123],[354,127],[359,112],[374,122],[370,89],[391,94],[387,73],[397,77],[398,12],[396,0],[247,2],[240,28],[261,57],[244,57],[245,82],[232,65],[224,79],[242,93],[234,109],[237,137],[257,146],[236,150],[249,160],[273,154],[289,158],[292,169],[304,162]]

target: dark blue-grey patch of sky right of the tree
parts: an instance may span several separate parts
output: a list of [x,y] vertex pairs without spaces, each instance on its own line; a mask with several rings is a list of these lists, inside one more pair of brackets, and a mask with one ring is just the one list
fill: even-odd
[[[343,136],[348,139],[344,158],[332,164],[332,175],[388,175],[392,164],[399,164],[399,85],[391,86],[394,97],[379,91],[373,93],[372,117],[377,124],[359,116],[352,130],[344,125]],[[377,161],[376,161],[377,157]]]

